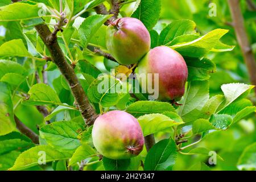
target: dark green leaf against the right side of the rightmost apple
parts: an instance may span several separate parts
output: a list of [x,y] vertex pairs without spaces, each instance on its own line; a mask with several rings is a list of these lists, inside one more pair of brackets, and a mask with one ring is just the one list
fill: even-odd
[[186,59],[188,81],[208,80],[210,73],[216,72],[216,65],[208,59]]

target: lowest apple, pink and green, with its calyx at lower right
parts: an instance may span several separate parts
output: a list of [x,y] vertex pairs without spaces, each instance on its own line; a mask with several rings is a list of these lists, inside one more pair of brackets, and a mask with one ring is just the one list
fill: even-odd
[[109,111],[100,115],[93,125],[95,148],[109,159],[130,159],[143,149],[141,126],[133,115],[125,111]]

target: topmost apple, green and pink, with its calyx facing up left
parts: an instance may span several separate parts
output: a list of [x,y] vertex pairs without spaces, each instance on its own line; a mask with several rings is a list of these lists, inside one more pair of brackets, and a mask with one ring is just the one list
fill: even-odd
[[119,64],[138,63],[150,44],[150,34],[139,19],[119,18],[106,29],[106,47]]

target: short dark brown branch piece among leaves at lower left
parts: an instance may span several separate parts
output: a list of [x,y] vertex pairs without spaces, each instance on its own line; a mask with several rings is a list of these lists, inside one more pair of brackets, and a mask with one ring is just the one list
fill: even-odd
[[14,121],[16,123],[17,129],[20,131],[20,133],[26,135],[28,138],[32,140],[35,144],[39,144],[39,137],[37,134],[34,133],[31,129],[29,129],[26,125],[24,125],[19,118],[14,115]]

